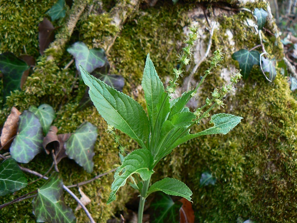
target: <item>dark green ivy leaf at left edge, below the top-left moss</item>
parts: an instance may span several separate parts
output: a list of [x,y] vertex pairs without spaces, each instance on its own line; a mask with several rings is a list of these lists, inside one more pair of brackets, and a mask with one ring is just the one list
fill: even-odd
[[24,71],[29,69],[28,64],[14,56],[12,53],[0,55],[0,70],[3,73],[3,98],[10,95],[11,91],[21,89],[21,79]]

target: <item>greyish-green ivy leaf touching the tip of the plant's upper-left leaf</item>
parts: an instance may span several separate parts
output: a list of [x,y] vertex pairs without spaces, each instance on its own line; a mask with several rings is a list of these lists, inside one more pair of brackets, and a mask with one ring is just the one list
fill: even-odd
[[67,51],[74,56],[77,70],[80,70],[80,64],[88,73],[92,73],[96,68],[103,66],[106,61],[104,50],[97,48],[89,50],[83,42],[76,42]]

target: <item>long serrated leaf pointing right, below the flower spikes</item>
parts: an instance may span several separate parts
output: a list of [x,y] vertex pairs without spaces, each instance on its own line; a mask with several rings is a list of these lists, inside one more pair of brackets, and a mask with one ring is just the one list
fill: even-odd
[[186,134],[185,136],[177,139],[169,150],[174,149],[180,144],[187,142],[190,139],[197,138],[202,135],[212,135],[212,134],[227,134],[231,129],[233,129],[239,122],[241,122],[243,117],[235,116],[233,114],[219,113],[212,115],[209,123],[214,125],[208,129],[205,129],[196,134]]

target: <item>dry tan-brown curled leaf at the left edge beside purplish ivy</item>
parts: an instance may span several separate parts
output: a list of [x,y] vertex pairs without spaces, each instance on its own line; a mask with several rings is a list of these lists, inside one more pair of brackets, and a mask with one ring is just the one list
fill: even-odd
[[1,145],[3,146],[4,150],[9,149],[12,140],[10,142],[8,141],[16,135],[20,114],[20,111],[18,111],[15,107],[12,107],[10,114],[4,123],[1,133]]

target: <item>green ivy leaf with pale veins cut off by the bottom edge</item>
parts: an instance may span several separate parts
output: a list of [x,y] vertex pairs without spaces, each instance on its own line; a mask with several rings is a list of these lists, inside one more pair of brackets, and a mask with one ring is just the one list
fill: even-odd
[[75,223],[71,208],[67,207],[63,198],[63,181],[57,172],[38,189],[34,198],[33,214],[37,222]]

